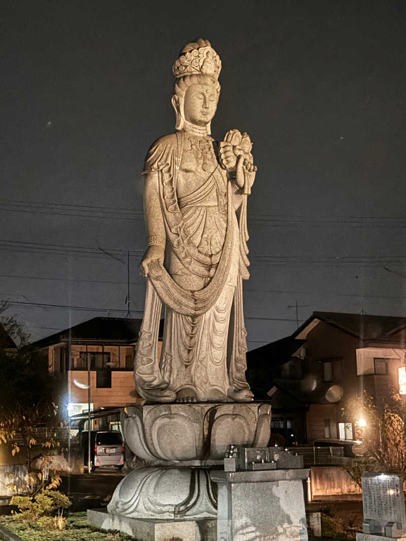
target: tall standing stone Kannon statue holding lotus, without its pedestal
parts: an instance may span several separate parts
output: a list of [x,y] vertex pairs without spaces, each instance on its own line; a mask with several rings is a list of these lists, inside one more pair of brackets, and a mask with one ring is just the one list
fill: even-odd
[[253,397],[242,282],[249,278],[246,205],[257,168],[246,133],[211,137],[220,69],[206,39],[180,51],[172,68],[176,131],[153,143],[143,170],[147,292],[134,379],[152,403]]

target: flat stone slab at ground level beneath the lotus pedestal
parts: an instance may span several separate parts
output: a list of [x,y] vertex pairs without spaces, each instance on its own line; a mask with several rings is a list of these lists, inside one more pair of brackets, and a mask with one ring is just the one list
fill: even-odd
[[217,541],[217,520],[154,520],[121,517],[88,509],[87,520],[101,530],[119,530],[137,541]]

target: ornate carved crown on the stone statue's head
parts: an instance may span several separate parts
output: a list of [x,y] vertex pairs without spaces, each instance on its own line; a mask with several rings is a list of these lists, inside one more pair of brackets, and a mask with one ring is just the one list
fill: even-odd
[[200,74],[219,77],[221,60],[207,39],[199,38],[197,43],[189,43],[180,52],[184,54],[172,66],[175,77]]

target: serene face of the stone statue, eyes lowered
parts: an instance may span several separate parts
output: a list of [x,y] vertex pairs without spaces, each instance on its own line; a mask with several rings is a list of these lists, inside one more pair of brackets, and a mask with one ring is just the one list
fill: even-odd
[[218,101],[216,85],[192,84],[185,94],[185,119],[197,126],[206,126],[212,121]]

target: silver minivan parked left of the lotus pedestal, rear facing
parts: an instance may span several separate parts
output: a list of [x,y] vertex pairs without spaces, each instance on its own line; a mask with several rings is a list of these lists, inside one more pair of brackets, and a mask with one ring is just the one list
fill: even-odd
[[[88,465],[88,431],[81,434],[83,464]],[[91,471],[99,466],[114,466],[121,470],[124,465],[124,442],[116,430],[92,430],[90,432]]]

